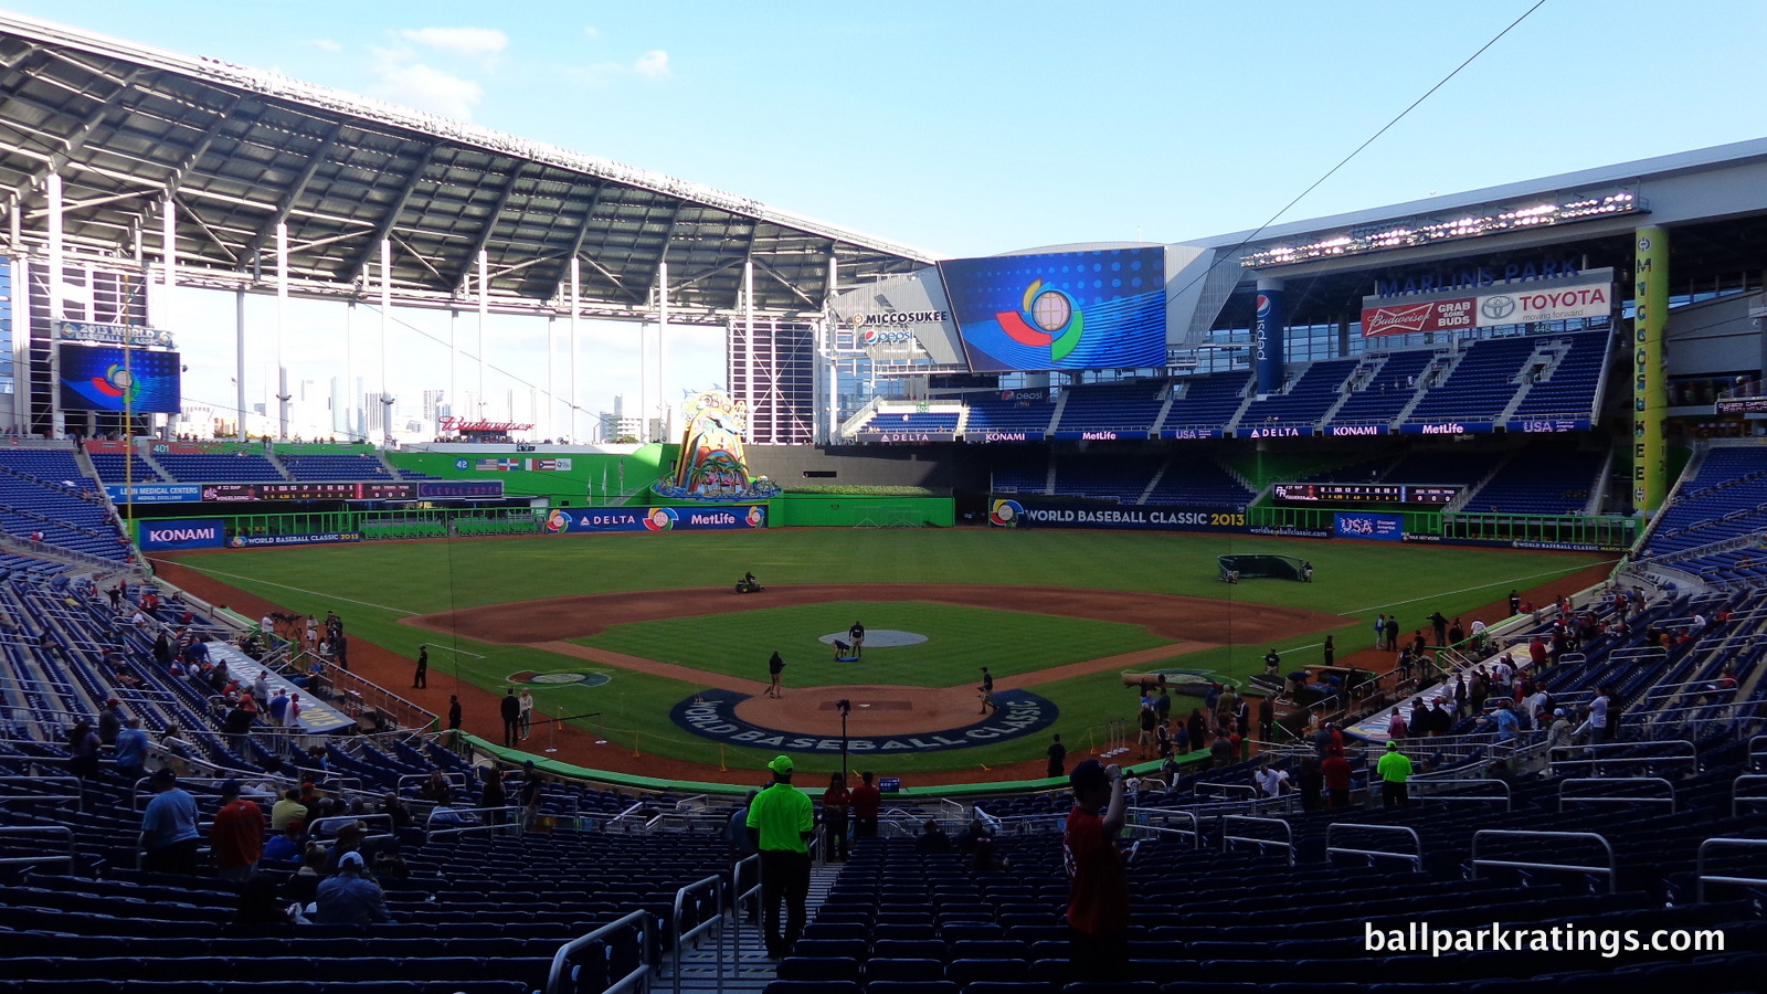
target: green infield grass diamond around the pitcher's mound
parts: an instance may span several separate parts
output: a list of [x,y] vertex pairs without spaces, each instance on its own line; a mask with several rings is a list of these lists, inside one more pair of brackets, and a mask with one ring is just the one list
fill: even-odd
[[[853,619],[873,631],[894,628],[928,638],[917,646],[866,646],[862,669],[836,663],[834,649],[818,638],[845,638]],[[1138,624],[928,601],[830,601],[641,621],[574,642],[760,681],[767,679],[769,654],[777,651],[792,686],[952,686],[974,683],[981,667],[1005,677],[1170,644]]]

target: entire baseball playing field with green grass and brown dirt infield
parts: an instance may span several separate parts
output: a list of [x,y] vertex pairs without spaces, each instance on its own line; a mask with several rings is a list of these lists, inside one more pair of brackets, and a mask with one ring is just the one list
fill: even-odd
[[[1304,557],[1315,582],[1221,584],[1228,552]],[[1398,614],[1407,635],[1435,610],[1495,623],[1511,589],[1541,600],[1608,568],[1580,554],[1030,529],[438,539],[155,564],[253,617],[336,610],[355,672],[438,715],[458,693],[465,729],[493,741],[497,699],[527,688],[537,718],[574,720],[541,722],[525,750],[693,780],[753,778],[797,752],[825,776],[845,699],[852,739],[878,753],[864,768],[922,784],[1041,775],[1051,734],[1099,746],[1134,713],[1124,670],[1244,679],[1272,647],[1285,663],[1320,661],[1327,635],[1345,660],[1373,646],[1376,614]],[[735,594],[744,571],[767,591]],[[830,642],[855,621],[869,646],[836,661]],[[429,686],[410,690],[419,644]],[[779,699],[765,693],[776,651]]]

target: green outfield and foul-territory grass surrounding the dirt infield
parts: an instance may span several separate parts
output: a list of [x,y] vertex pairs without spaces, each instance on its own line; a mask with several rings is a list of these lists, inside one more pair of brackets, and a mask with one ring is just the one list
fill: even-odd
[[[1216,580],[1216,555],[1228,552],[1304,557],[1315,566],[1315,582],[1251,580],[1226,587]],[[436,637],[398,621],[451,607],[611,591],[723,587],[744,570],[753,570],[763,584],[922,582],[1156,591],[1202,598],[1232,596],[1239,603],[1279,603],[1343,616],[1341,628],[1301,635],[1276,646],[1292,661],[1316,661],[1316,644],[1327,633],[1336,633],[1341,653],[1364,647],[1369,642],[1368,626],[1378,612],[1396,610],[1407,633],[1422,626],[1433,610],[1442,610],[1449,617],[1467,616],[1470,623],[1472,608],[1500,600],[1511,587],[1541,585],[1596,559],[1491,548],[1207,534],[781,529],[263,548],[194,555],[182,562],[288,610],[302,614],[336,610],[348,621],[352,637],[406,656],[417,654],[419,642],[429,642],[435,669],[458,672],[463,679],[500,692],[507,676],[518,670],[558,672],[597,667],[535,649]],[[737,617],[721,616],[719,624],[740,624],[733,621]],[[861,617],[868,628],[915,630],[906,623],[884,624],[871,616]],[[811,628],[820,630],[808,637],[841,631],[852,621],[846,614],[836,614],[832,624],[813,624]],[[1090,630],[1092,624],[1048,621],[1062,628],[1073,624],[1074,631]],[[746,646],[732,663],[737,667],[733,672],[760,679],[772,642],[756,637]],[[1246,677],[1258,672],[1267,647],[1210,649],[1182,656],[1175,665]],[[452,654],[456,649],[459,653]],[[622,651],[648,658],[671,654],[668,640],[661,637],[643,651],[634,644],[627,644]],[[811,649],[816,651],[825,649]],[[891,649],[896,651],[901,649]],[[686,660],[686,654],[675,654]],[[1103,654],[1110,653],[1088,651],[1081,658]],[[982,665],[974,660],[963,665],[972,663]],[[1009,667],[1012,660],[1002,658],[998,663]],[[1041,665],[1050,663],[1039,663],[1039,669]],[[808,663],[786,670],[786,681],[797,683],[806,669]],[[926,683],[952,684],[958,679],[967,677],[961,674],[956,679],[929,677]],[[535,697],[548,715],[603,711],[604,716],[590,723],[592,729],[604,725],[610,739],[624,743],[636,732],[647,752],[666,752],[700,762],[717,762],[723,755],[732,768],[767,759],[758,750],[733,746],[723,753],[716,743],[675,729],[668,722],[668,709],[693,692],[693,686],[680,681],[617,672],[613,683],[606,686],[535,688]],[[1062,716],[1053,730],[1062,732],[1069,743],[1085,743],[1088,727],[1133,713],[1133,695],[1120,686],[1115,674],[1044,684],[1039,686],[1039,693],[1060,706]],[[892,757],[892,762],[928,771],[975,769],[979,764],[1037,755],[1041,741],[1020,741]],[[825,766],[832,769],[834,762]],[[815,761],[806,762],[806,768],[827,773]]]

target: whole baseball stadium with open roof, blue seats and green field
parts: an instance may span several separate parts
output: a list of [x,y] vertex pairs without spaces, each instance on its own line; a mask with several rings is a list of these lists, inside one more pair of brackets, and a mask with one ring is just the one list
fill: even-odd
[[[1762,989],[1767,140],[935,258],[0,62],[0,994]],[[413,423],[396,310],[468,333]],[[656,333],[638,416],[493,403],[489,315]]]

